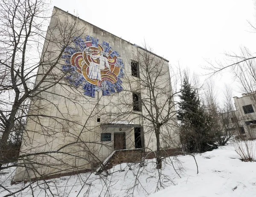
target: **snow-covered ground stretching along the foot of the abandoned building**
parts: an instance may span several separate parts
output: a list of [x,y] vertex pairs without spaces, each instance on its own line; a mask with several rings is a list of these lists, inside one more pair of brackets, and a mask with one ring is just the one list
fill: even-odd
[[[253,147],[256,147],[256,141],[252,143]],[[196,154],[198,174],[195,160],[189,155],[178,156],[177,159],[173,157],[171,160],[165,159],[161,171],[155,169],[154,159],[151,159],[146,161],[144,167],[126,163],[116,165],[107,177],[85,173],[47,180],[47,183],[39,181],[32,185],[28,183],[10,185],[15,170],[11,168],[9,174],[0,177],[2,185],[0,196],[12,194],[24,186],[27,186],[24,191],[14,195],[26,197],[33,195],[45,197],[52,194],[61,197],[256,196],[256,162],[242,162],[234,147],[234,144],[230,144],[201,155]]]

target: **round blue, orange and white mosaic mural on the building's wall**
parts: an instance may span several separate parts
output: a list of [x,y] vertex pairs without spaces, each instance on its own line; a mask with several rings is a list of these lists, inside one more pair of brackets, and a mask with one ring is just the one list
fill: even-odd
[[73,46],[64,49],[62,58],[66,65],[63,72],[69,73],[66,77],[70,84],[76,87],[83,86],[84,95],[95,97],[95,91],[102,90],[102,95],[123,90],[124,64],[118,52],[111,49],[109,43],[86,36],[73,38]]

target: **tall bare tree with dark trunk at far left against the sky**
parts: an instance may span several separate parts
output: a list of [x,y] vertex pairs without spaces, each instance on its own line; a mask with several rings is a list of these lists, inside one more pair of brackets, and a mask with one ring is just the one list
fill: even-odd
[[[58,24],[56,29],[66,32],[58,40],[56,35],[44,36],[44,19],[47,19],[44,1],[2,1],[1,2],[1,41],[0,41],[0,126],[1,147],[9,139],[15,122],[21,122],[28,116],[27,109],[33,107],[42,92],[54,87],[64,78],[65,74],[57,76],[56,69],[65,46],[73,42],[73,35],[78,31],[76,19]],[[50,29],[49,31],[53,31]],[[69,33],[67,32],[69,31]],[[44,47],[41,41],[46,39]],[[61,43],[63,48],[53,51],[49,43]],[[44,48],[44,54],[39,54]],[[50,54],[57,53],[56,58]],[[38,68],[44,71],[37,75]],[[34,81],[36,80],[36,84]]]

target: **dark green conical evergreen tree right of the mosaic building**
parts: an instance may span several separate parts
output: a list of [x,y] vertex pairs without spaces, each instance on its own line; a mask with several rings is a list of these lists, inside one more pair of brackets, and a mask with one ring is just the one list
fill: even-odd
[[201,106],[197,91],[187,79],[183,81],[180,100],[177,117],[181,122],[180,141],[184,150],[202,153],[217,148],[212,118]]

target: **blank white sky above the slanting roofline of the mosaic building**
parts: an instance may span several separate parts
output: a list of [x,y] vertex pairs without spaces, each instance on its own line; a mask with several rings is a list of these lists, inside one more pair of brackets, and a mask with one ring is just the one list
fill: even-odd
[[[256,21],[254,0],[52,0],[52,6],[131,43],[143,46],[145,40],[172,66],[179,62],[198,74],[207,72],[201,69],[206,59],[223,62],[224,52],[241,46],[256,52],[247,22]],[[233,84],[234,96],[241,96],[230,75],[214,79],[220,90]]]

